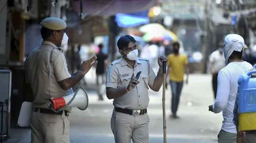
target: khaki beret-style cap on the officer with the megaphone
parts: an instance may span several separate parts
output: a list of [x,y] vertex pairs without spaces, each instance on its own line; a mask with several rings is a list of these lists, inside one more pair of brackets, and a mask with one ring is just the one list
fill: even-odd
[[67,27],[67,24],[64,20],[56,17],[48,17],[44,19],[40,25],[51,30],[62,30]]

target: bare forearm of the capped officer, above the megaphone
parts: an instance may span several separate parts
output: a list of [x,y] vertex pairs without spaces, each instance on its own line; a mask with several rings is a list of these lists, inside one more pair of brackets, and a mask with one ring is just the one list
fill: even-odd
[[82,71],[77,71],[74,75],[72,75],[70,78],[64,79],[59,83],[62,89],[68,90],[71,87],[74,87],[83,77],[84,73]]

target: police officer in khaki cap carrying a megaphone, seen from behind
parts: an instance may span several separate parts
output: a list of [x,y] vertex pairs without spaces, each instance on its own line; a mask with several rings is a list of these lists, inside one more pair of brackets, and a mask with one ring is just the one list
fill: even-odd
[[26,82],[33,93],[31,117],[32,143],[69,143],[70,122],[67,110],[54,112],[50,98],[62,97],[68,89],[77,84],[96,63],[96,56],[84,61],[80,69],[70,75],[62,50],[65,21],[46,18],[41,23],[42,44],[26,59]]

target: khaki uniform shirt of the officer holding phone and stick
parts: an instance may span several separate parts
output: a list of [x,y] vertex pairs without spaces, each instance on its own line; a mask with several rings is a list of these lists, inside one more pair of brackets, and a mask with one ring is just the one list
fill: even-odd
[[119,89],[127,87],[131,76],[141,71],[138,79],[139,84],[127,94],[114,98],[113,105],[115,107],[127,108],[133,110],[145,109],[148,106],[148,87],[153,87],[156,75],[146,59],[138,58],[134,68],[130,67],[125,59],[121,58],[111,63],[107,70],[106,87]]

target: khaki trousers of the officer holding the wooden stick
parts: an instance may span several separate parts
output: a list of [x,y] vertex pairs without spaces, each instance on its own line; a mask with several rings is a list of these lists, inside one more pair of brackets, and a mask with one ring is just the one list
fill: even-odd
[[148,143],[149,117],[143,115],[128,115],[113,111],[111,129],[116,143]]

